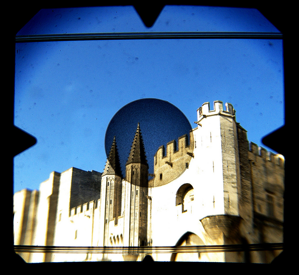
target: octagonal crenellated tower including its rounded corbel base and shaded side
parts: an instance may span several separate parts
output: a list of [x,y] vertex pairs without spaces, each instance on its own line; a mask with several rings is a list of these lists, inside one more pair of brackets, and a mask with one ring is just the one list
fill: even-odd
[[219,238],[219,244],[238,243],[241,218],[248,224],[252,221],[246,130],[236,122],[233,106],[225,106],[222,101],[214,101],[213,109],[209,102],[202,104],[195,132],[196,152],[205,155],[204,167],[203,163],[199,166],[211,187],[205,191],[207,201],[203,203],[208,215],[201,222],[210,236]]

